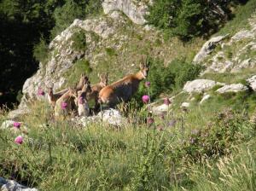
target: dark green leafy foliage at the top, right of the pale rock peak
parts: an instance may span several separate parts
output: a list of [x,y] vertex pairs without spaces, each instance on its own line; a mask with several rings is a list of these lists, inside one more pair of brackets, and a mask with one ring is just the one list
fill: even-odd
[[[157,0],[149,7],[148,23],[184,40],[216,32],[237,1]],[[224,11],[224,13],[222,13]]]

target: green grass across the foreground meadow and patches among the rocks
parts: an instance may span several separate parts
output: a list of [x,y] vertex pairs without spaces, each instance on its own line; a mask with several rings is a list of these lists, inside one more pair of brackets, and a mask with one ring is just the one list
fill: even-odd
[[[135,40],[146,43],[140,39]],[[187,56],[200,47],[174,44],[170,55]],[[234,78],[207,75],[218,81]],[[195,95],[188,113],[179,106],[189,96],[177,96],[173,113],[155,117],[153,128],[130,123],[118,130],[101,124],[74,127],[69,120],[53,123],[48,104],[32,103],[33,113],[20,119],[30,140],[18,146],[14,139],[20,130],[0,130],[0,175],[40,190],[255,190],[255,124],[246,118],[247,111],[253,113],[255,96],[210,94],[202,105],[202,95]],[[230,107],[244,112],[219,114]],[[4,119],[3,113],[0,122]]]

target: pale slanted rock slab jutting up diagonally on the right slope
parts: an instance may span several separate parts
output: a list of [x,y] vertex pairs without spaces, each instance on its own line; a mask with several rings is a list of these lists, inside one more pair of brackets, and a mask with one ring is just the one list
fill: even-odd
[[213,49],[215,49],[216,45],[220,43],[222,40],[224,40],[224,38],[227,38],[227,37],[228,35],[218,36],[208,40],[207,43],[204,43],[199,53],[195,55],[195,58],[193,61],[194,62],[203,61],[207,57],[207,55],[209,55],[213,51]]

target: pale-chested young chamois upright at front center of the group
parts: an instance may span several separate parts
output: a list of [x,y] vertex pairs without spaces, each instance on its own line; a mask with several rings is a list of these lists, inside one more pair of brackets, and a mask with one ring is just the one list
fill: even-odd
[[79,116],[89,116],[90,114],[90,107],[86,98],[90,92],[90,81],[87,81],[84,83],[82,90],[78,91],[78,99],[76,99]]

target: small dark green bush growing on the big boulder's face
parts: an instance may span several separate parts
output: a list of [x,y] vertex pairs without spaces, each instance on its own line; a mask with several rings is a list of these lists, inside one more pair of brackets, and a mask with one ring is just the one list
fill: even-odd
[[71,38],[73,41],[72,48],[75,50],[86,50],[86,35],[85,32],[80,30],[79,32],[73,33]]

